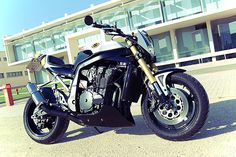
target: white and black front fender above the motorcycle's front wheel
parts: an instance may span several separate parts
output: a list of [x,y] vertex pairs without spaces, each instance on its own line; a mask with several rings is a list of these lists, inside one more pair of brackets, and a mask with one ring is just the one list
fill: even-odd
[[179,69],[179,68],[169,68],[169,69],[159,70],[158,72],[154,74],[154,77],[156,78],[157,83],[159,84],[165,96],[168,95],[168,90],[167,90],[167,85],[166,85],[167,78],[175,73],[183,73],[185,71],[186,70]]

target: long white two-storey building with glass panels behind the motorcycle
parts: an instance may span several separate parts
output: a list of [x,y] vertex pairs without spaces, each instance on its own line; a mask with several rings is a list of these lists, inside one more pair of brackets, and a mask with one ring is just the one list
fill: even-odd
[[[73,63],[85,44],[110,40],[101,30],[85,26],[86,15],[100,23],[116,23],[124,32],[146,30],[160,67],[236,56],[235,0],[111,0],[4,38],[8,64],[27,64],[36,52]],[[43,72],[35,73],[35,78],[38,83],[49,79]]]

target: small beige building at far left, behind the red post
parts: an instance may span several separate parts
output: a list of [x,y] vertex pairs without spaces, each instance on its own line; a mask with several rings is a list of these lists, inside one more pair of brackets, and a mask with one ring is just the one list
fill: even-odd
[[11,84],[12,87],[25,86],[28,82],[28,72],[25,65],[7,65],[5,52],[0,51],[0,86]]

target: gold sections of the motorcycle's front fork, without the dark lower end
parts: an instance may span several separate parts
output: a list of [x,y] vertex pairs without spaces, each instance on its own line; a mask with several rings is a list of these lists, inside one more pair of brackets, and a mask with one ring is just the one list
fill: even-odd
[[[128,46],[130,46],[130,50],[133,53],[134,56],[136,56],[139,52],[137,48],[132,44],[131,41],[127,40]],[[142,70],[144,71],[145,75],[149,79],[149,81],[153,84],[154,82],[157,82],[156,78],[153,76],[151,70],[148,68],[147,63],[144,61],[143,58],[140,58],[138,60],[139,65],[141,66]]]

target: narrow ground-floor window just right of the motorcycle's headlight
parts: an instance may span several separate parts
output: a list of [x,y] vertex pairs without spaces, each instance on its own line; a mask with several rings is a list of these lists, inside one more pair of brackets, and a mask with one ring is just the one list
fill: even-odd
[[163,62],[174,58],[170,32],[152,36],[152,39],[154,42],[157,62]]

